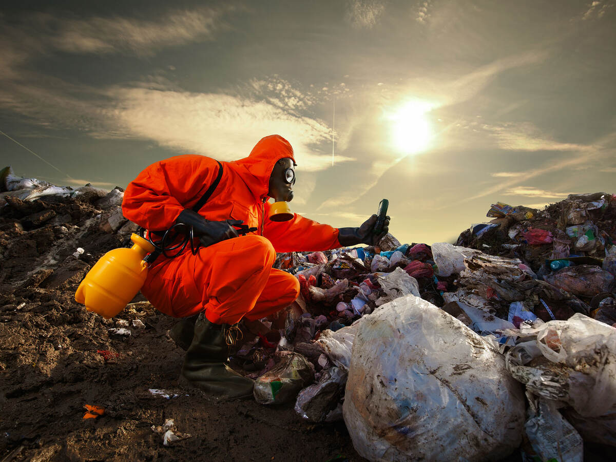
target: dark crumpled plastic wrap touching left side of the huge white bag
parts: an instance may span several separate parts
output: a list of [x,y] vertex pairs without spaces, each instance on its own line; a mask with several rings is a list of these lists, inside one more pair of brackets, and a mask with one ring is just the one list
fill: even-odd
[[323,371],[318,383],[299,392],[295,411],[301,418],[312,422],[323,422],[330,411],[338,406],[344,393],[347,372],[339,367]]

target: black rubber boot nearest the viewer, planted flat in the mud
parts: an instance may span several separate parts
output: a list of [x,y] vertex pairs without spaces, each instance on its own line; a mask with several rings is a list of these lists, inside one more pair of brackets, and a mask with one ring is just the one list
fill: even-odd
[[235,399],[253,395],[254,381],[225,365],[229,326],[217,325],[201,313],[195,322],[195,336],[186,351],[180,384],[197,387],[214,398]]

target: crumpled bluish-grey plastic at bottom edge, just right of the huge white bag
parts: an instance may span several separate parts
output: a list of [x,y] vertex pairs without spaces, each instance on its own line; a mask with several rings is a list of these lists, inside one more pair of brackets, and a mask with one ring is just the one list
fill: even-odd
[[533,450],[540,460],[582,462],[582,437],[556,408],[556,403],[528,395],[530,418],[524,424]]

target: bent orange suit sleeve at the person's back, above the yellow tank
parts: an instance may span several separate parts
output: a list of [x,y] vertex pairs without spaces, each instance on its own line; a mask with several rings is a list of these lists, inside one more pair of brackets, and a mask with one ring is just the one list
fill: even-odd
[[217,162],[200,155],[156,162],[126,187],[122,213],[150,231],[169,229],[182,210],[197,203],[217,174]]

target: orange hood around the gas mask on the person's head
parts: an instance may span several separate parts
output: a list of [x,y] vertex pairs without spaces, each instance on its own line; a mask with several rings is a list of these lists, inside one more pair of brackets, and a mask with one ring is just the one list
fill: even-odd
[[237,166],[254,197],[264,198],[269,191],[269,179],[274,164],[284,158],[292,159],[295,164],[291,144],[280,135],[270,135],[259,140],[248,157],[230,164]]

